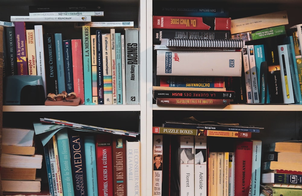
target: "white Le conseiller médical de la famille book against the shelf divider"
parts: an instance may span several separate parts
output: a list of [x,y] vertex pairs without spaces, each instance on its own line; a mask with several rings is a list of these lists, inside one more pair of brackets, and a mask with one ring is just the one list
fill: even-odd
[[140,190],[140,140],[126,140],[127,195],[141,195]]

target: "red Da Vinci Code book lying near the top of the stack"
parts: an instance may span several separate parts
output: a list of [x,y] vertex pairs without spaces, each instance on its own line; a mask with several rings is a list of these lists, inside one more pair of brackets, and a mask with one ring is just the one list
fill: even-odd
[[231,30],[231,18],[153,16],[153,29]]

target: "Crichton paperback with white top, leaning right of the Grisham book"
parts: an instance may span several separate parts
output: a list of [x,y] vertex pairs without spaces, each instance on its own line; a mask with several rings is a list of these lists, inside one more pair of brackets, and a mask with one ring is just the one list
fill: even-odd
[[249,45],[247,47],[247,49],[248,49],[247,53],[249,55],[249,70],[250,70],[251,82],[252,82],[253,103],[259,103],[259,88],[258,88],[258,82],[257,82],[258,79],[257,79],[254,45]]

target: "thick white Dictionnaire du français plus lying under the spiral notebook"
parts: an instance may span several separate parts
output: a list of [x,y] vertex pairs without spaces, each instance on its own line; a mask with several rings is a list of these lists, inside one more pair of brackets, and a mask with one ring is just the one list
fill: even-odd
[[158,76],[241,76],[241,52],[157,50],[156,53]]

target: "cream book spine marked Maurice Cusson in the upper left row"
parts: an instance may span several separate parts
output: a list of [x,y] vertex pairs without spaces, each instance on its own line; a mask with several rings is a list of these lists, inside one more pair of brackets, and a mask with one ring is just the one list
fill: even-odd
[[111,40],[112,100],[113,100],[113,104],[117,104],[115,29],[110,29],[110,40]]

